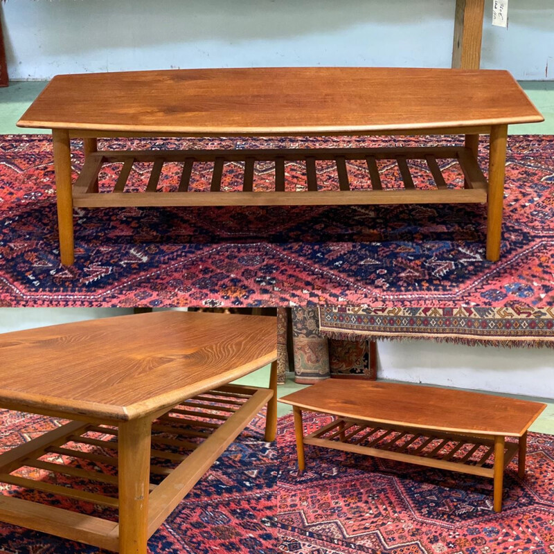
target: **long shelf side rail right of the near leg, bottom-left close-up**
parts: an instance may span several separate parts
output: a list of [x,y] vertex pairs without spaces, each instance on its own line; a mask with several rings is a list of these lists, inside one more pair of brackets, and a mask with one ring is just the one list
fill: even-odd
[[240,434],[262,406],[273,395],[273,391],[259,389],[245,402],[244,406],[229,418],[211,438],[205,440],[186,460],[162,481],[150,494],[148,506],[148,535],[152,535],[175,506],[193,488],[204,472]]

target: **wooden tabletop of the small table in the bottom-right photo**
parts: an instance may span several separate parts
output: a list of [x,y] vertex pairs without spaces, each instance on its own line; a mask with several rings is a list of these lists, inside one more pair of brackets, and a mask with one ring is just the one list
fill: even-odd
[[452,388],[326,379],[279,399],[308,411],[462,434],[521,436],[546,404]]

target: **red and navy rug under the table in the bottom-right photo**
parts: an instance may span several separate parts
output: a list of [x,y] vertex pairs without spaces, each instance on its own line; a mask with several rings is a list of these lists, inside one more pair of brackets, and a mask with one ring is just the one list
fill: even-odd
[[[308,415],[308,414],[306,414]],[[307,417],[315,429],[330,418]],[[530,433],[526,479],[510,463],[503,510],[492,479],[319,447],[298,475],[292,415],[279,421],[280,551],[295,554],[499,554],[554,550],[554,436]]]

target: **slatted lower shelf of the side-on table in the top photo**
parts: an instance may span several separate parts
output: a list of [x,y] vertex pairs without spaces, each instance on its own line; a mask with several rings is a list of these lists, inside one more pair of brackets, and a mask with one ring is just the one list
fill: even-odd
[[[409,161],[427,167],[428,182],[416,186]],[[316,164],[332,162],[337,186],[320,190]],[[367,186],[351,188],[347,162],[361,161],[366,167]],[[397,165],[402,188],[389,188],[382,182],[377,162]],[[461,168],[463,188],[445,180],[439,162],[451,161]],[[211,185],[207,192],[193,191],[191,177],[196,163],[211,164]],[[258,162],[274,164],[271,190],[253,190],[254,168]],[[285,167],[289,162],[305,165],[305,190],[285,190]],[[98,193],[98,175],[104,164],[120,164],[115,183]],[[150,176],[142,190],[129,187],[129,175],[136,163],[148,164]],[[181,166],[179,184],[172,192],[161,192],[160,177],[165,163]],[[224,168],[233,164],[242,171],[240,190],[225,190]],[[488,184],[470,148],[313,148],[257,150],[137,150],[101,151],[89,154],[73,187],[73,204],[79,207],[109,206],[253,206],[326,204],[431,204],[484,203]],[[127,189],[127,190],[126,190]]]

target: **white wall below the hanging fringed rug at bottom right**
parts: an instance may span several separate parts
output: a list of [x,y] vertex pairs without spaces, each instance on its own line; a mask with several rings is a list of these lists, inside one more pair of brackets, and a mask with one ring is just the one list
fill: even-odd
[[554,398],[553,348],[379,341],[384,379]]

